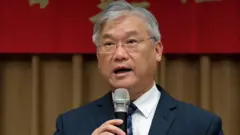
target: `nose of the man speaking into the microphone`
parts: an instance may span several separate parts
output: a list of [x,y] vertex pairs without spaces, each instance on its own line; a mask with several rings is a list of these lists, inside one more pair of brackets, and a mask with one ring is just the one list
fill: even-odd
[[116,46],[116,50],[113,56],[115,61],[123,61],[128,59],[128,53],[122,45]]

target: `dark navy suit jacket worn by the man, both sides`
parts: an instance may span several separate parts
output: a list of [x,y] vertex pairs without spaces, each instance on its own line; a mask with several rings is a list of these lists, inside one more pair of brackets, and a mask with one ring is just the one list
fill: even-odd
[[[203,109],[180,102],[160,86],[161,97],[149,135],[223,135],[221,119]],[[91,135],[114,118],[111,92],[104,97],[60,115],[54,135]]]

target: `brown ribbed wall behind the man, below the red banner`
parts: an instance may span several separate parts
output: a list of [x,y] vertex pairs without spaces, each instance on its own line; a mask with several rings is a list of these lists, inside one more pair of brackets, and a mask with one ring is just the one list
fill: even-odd
[[[239,56],[166,55],[156,82],[220,115],[226,135],[239,135]],[[0,55],[0,135],[51,135],[60,113],[107,91],[95,55]]]

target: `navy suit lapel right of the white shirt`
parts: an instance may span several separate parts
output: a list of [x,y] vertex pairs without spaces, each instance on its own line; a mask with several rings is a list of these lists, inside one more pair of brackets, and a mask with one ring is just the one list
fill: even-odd
[[160,86],[157,85],[157,87],[161,92],[161,97],[149,130],[149,135],[167,135],[175,118],[174,110],[177,106],[177,102]]

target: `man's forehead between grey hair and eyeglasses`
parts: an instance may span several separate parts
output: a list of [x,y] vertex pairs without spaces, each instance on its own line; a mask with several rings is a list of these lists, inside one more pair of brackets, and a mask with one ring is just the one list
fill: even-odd
[[144,20],[138,16],[122,16],[106,21],[102,25],[100,39],[113,37],[147,36],[148,29]]

